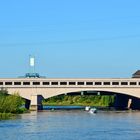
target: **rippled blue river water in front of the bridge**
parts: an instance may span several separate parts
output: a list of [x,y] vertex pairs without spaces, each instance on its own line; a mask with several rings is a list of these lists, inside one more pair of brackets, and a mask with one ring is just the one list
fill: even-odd
[[0,140],[140,140],[140,112],[31,112],[0,121]]

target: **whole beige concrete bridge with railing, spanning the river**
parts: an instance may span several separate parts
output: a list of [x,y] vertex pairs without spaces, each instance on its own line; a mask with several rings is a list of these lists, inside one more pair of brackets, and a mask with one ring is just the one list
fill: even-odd
[[[118,102],[127,100],[128,106],[135,104],[134,99],[140,99],[140,79],[139,78],[116,78],[116,79],[48,79],[48,78],[15,78],[0,79],[0,88],[8,90],[9,94],[18,92],[26,99],[26,107],[37,110],[41,109],[43,98],[81,92],[86,94],[90,91],[97,93],[107,92],[108,94],[118,94]],[[86,91],[86,92],[85,92]],[[123,97],[127,97],[124,99]],[[119,96],[118,96],[119,97]],[[128,98],[129,97],[129,98]],[[140,102],[137,103],[140,108]]]

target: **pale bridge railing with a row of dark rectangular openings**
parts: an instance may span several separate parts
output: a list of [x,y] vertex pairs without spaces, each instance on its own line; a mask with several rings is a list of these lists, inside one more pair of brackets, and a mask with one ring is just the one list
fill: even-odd
[[140,87],[140,79],[0,80],[2,87]]

